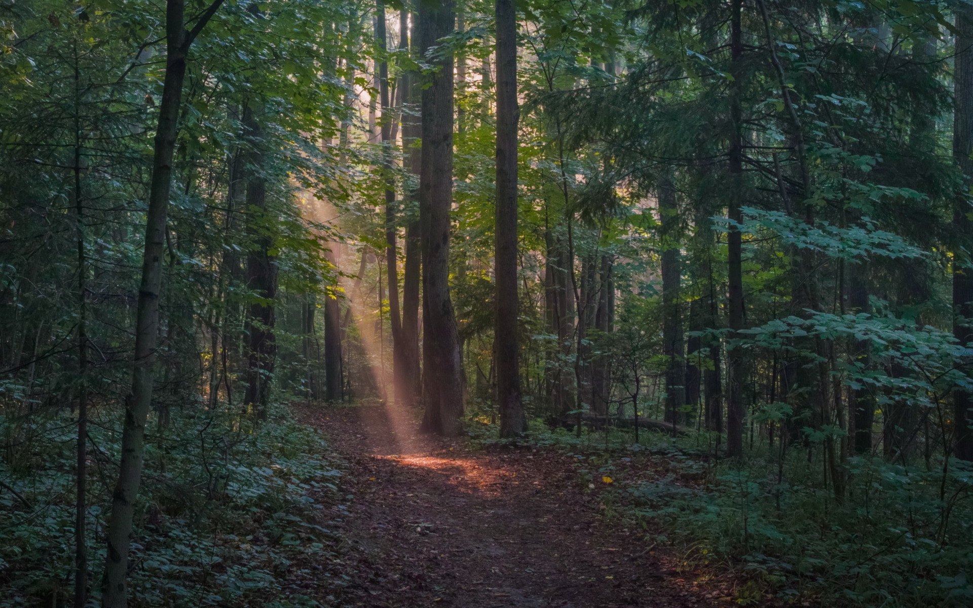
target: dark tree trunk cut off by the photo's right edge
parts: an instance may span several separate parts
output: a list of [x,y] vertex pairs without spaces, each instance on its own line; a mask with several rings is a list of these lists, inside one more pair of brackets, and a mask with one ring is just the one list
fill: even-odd
[[[964,184],[973,177],[973,7],[956,8],[955,59],[955,119],[953,126],[953,156],[963,172]],[[970,244],[973,235],[973,213],[967,188],[957,193],[953,208],[953,226],[957,246],[953,260],[953,334],[962,344],[973,341],[973,264]],[[954,425],[955,456],[973,460],[973,395],[955,390]]]

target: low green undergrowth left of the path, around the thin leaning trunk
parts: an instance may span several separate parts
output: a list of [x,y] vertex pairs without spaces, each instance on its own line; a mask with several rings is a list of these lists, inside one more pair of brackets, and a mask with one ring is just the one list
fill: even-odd
[[[0,417],[0,480],[29,503],[0,489],[0,608],[59,606],[73,586],[74,425],[69,412],[41,413],[29,425]],[[112,422],[90,423],[91,605],[121,439]],[[147,429],[130,605],[318,605],[306,588],[345,584],[328,568],[340,542],[328,521],[342,514],[341,473],[314,429],[283,406],[260,425],[236,411],[186,409]]]

